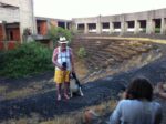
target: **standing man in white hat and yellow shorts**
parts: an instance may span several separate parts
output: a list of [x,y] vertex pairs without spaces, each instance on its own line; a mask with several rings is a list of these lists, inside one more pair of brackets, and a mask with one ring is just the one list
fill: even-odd
[[72,49],[66,44],[65,37],[61,37],[58,41],[60,46],[55,48],[52,55],[52,62],[55,65],[54,82],[56,83],[58,101],[61,100],[61,89],[64,84],[64,97],[69,100],[70,73],[74,72],[74,62]]

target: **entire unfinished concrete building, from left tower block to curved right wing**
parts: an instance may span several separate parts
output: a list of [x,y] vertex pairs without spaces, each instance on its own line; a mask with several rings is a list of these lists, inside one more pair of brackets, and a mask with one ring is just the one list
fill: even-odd
[[24,29],[44,39],[51,25],[76,29],[80,33],[166,34],[166,9],[75,18],[72,20],[34,17],[33,0],[0,0],[0,49],[4,41],[22,42]]

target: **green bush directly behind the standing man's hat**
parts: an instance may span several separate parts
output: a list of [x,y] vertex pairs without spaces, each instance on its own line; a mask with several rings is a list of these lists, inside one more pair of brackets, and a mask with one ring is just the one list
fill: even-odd
[[65,30],[60,27],[56,28],[52,25],[48,32],[48,35],[54,42],[54,45],[56,45],[56,42],[59,41],[60,37],[65,37],[70,43],[72,41],[72,33],[69,30]]

